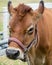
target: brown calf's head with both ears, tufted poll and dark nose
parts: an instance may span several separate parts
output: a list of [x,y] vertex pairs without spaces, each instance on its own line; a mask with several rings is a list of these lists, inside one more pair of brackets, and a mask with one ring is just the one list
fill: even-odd
[[[24,49],[26,50],[29,43],[36,38],[37,19],[44,12],[44,3],[40,1],[38,9],[33,11],[31,7],[24,4],[13,8],[11,1],[9,1],[8,11],[11,15],[9,22],[10,41],[6,54],[11,59],[24,60],[26,59]],[[31,52],[32,47],[33,45],[27,51],[27,55],[28,52]]]

